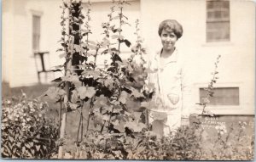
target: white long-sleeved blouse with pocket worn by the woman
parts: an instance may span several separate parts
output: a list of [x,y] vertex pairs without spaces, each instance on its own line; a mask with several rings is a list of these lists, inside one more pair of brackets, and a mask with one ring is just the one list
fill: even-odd
[[161,58],[160,53],[149,61],[149,68],[155,71],[149,75],[149,82],[154,83],[154,99],[156,105],[160,105],[152,110],[188,118],[189,109],[193,108],[189,67],[177,49],[166,59]]

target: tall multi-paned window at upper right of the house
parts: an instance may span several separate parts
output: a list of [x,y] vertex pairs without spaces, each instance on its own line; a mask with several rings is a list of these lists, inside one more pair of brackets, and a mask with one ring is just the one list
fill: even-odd
[[230,1],[207,0],[207,42],[230,41]]

